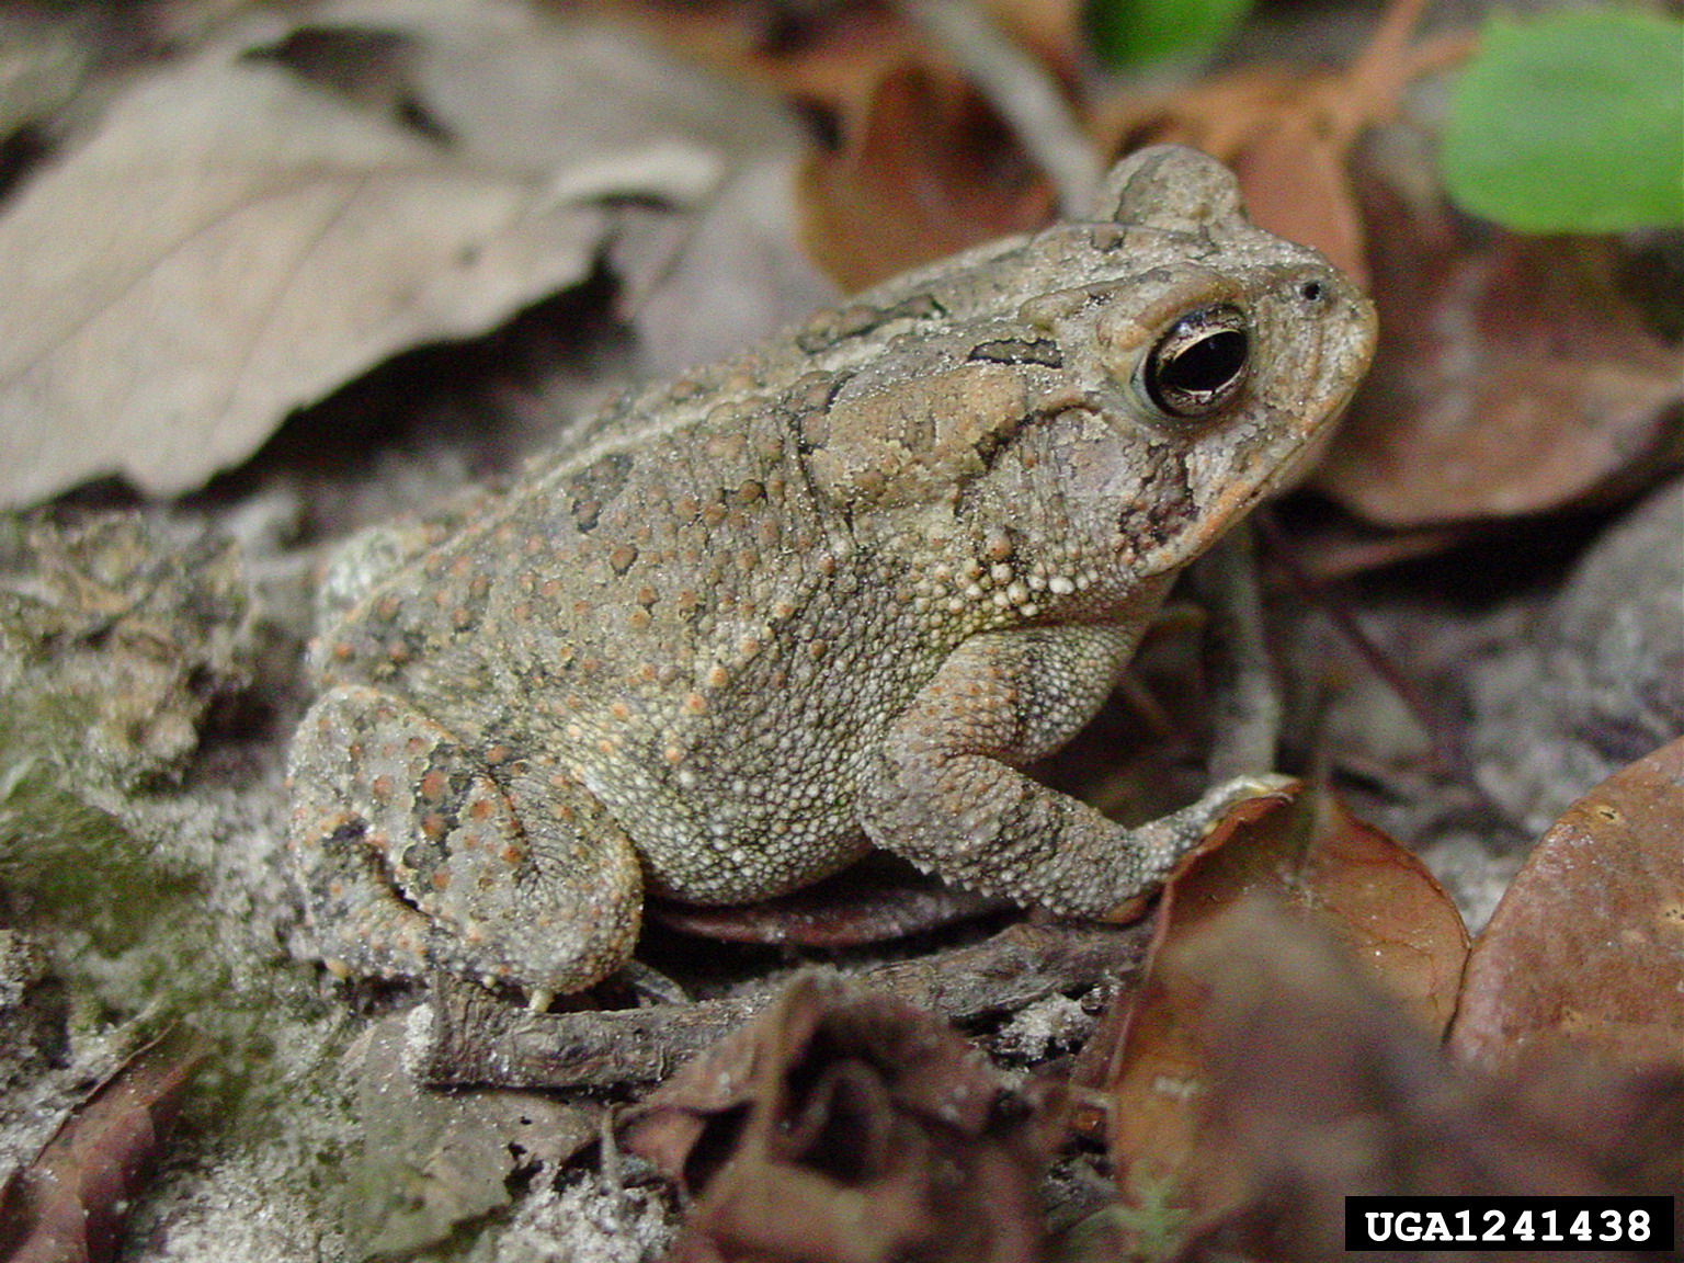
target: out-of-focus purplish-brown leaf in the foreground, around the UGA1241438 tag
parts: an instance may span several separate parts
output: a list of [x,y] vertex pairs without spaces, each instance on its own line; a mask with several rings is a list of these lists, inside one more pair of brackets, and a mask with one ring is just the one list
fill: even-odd
[[1556,1058],[1504,1078],[1458,1073],[1347,953],[1256,899],[1169,963],[1206,992],[1212,1113],[1248,1189],[1179,1263],[1347,1258],[1351,1194],[1665,1194],[1684,1180],[1677,1068]]

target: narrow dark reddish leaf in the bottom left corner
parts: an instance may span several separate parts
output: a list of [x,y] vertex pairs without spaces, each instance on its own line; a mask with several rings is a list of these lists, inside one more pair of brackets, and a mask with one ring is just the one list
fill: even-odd
[[0,1255],[8,1263],[99,1263],[113,1256],[200,1058],[187,1039],[152,1044],[59,1128],[3,1191]]

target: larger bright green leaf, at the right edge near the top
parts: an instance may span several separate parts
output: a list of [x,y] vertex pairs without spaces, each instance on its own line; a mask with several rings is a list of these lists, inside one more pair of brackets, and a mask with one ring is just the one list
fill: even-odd
[[1457,205],[1521,232],[1684,222],[1684,22],[1492,19],[1450,94],[1438,165]]

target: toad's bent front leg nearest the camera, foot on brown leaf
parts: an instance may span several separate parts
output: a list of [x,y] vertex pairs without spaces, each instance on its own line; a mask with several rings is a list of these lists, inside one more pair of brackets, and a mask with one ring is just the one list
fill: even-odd
[[1073,916],[1105,916],[1162,882],[1229,807],[1285,781],[1226,781],[1125,829],[1017,771],[1093,717],[1133,640],[1105,625],[967,640],[877,748],[861,790],[866,832],[960,886]]

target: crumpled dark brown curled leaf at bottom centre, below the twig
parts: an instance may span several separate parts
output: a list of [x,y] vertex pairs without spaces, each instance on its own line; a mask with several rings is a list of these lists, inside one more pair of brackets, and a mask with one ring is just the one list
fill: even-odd
[[943,1022],[810,972],[625,1140],[699,1192],[669,1263],[1032,1263],[1041,1132]]

